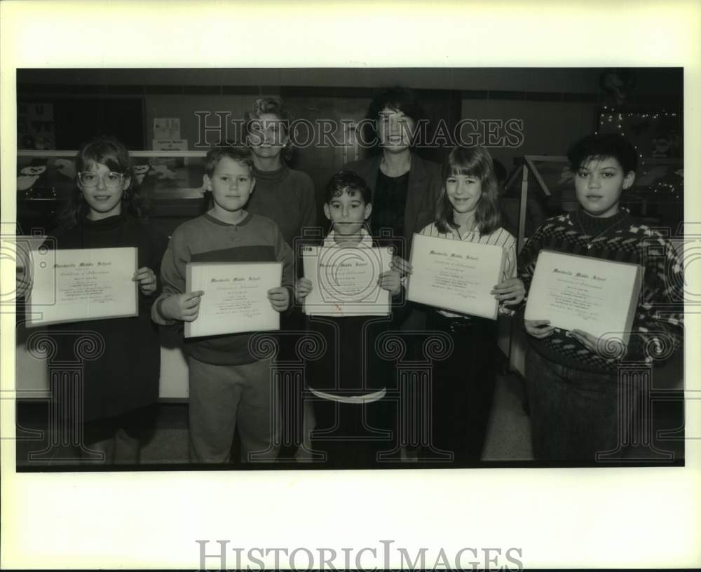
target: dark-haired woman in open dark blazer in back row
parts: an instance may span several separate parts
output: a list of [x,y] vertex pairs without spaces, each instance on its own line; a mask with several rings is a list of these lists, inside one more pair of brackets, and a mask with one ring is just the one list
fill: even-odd
[[[383,241],[390,239],[395,245],[393,268],[402,275],[411,273],[408,263],[411,255],[411,239],[424,226],[435,219],[436,204],[442,186],[441,166],[426,161],[415,152],[414,134],[420,129],[423,109],[416,94],[405,88],[389,88],[379,93],[370,103],[367,113],[370,137],[363,142],[372,142],[374,154],[362,161],[348,163],[344,169],[360,175],[372,191],[372,215],[369,226],[372,236]],[[402,304],[393,313],[393,329],[403,332],[409,359],[422,359],[423,343],[419,336],[410,332],[423,332],[426,329],[426,313],[421,306]],[[393,383],[388,380],[387,386]],[[408,383],[400,384],[398,404],[400,411],[418,411],[418,405],[425,402]],[[418,400],[418,401],[417,401]],[[411,405],[413,403],[413,405]],[[426,409],[422,407],[421,409]],[[417,418],[406,418],[395,424],[400,427],[419,427],[426,423],[428,413]],[[433,449],[430,442],[416,440],[422,434],[409,430],[406,434],[395,435],[397,447],[404,461],[421,461],[430,456]],[[419,437],[421,439],[421,437]]]

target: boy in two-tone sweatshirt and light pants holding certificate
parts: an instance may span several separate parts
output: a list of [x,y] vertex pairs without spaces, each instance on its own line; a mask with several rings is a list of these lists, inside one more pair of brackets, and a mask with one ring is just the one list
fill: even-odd
[[[278,226],[244,207],[253,191],[253,162],[246,149],[212,149],[205,159],[205,188],[212,207],[175,229],[161,264],[163,294],[151,312],[161,325],[182,326],[198,316],[204,292],[186,292],[188,262],[283,263],[282,285],[268,290],[275,311],[290,306],[292,250]],[[189,366],[190,457],[198,463],[229,461],[238,428],[243,461],[277,458],[280,420],[270,363],[250,350],[252,334],[185,340]]]

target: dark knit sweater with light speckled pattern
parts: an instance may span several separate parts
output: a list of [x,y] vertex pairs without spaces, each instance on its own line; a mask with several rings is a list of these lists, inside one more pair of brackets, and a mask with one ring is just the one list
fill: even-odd
[[[683,267],[674,246],[661,233],[639,224],[626,210],[613,217],[591,217],[583,210],[547,219],[519,254],[519,276],[526,297],[542,249],[640,264],[641,294],[625,361],[660,362],[683,343]],[[523,307],[522,307],[523,310]],[[555,329],[552,336],[528,336],[534,350],[552,362],[591,372],[614,373],[618,357],[602,357]]]

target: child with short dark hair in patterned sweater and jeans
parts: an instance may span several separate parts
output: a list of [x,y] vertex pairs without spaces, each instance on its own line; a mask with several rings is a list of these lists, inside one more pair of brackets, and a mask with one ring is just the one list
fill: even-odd
[[[533,455],[547,461],[594,461],[597,452],[616,449],[619,416],[629,418],[630,411],[623,409],[635,402],[618,398],[619,362],[656,363],[656,357],[668,357],[681,347],[683,268],[669,241],[619,207],[637,168],[636,151],[627,139],[589,135],[571,147],[568,158],[581,208],[547,219],[519,254],[526,297],[543,249],[643,266],[627,346],[612,347],[611,341],[555,328],[548,320],[524,320]],[[653,250],[655,256],[646,255]]]

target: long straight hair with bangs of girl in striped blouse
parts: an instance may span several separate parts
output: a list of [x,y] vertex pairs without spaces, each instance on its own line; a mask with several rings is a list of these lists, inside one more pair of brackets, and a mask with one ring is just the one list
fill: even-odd
[[480,147],[455,147],[443,163],[443,186],[436,205],[436,228],[447,233],[458,225],[453,217],[451,205],[446,192],[445,182],[448,177],[464,175],[475,177],[482,184],[482,196],[475,208],[475,223],[480,234],[489,234],[501,226],[501,214],[498,207],[498,185],[494,176],[494,165],[489,151]]

